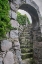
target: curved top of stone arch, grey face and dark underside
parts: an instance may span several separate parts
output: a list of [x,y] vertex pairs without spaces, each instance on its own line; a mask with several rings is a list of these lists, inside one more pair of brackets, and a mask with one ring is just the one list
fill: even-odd
[[[38,26],[40,26],[39,7],[33,0],[9,0],[9,1],[10,1],[11,11],[15,12],[15,16],[16,16],[16,11],[18,9],[23,9],[31,15],[33,28],[37,29]],[[12,15],[12,12],[11,12],[11,15]]]

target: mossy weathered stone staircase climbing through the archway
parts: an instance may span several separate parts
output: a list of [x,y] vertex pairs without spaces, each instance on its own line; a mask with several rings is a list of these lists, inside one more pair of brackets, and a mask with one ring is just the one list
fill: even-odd
[[33,44],[31,43],[30,30],[31,25],[24,27],[19,39],[21,44],[23,64],[33,64]]

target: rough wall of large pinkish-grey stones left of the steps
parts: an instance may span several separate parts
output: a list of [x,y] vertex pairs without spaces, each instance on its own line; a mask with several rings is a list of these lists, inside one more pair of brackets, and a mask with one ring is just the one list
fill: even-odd
[[6,34],[7,38],[1,41],[0,64],[22,64],[18,34],[19,23],[11,20],[11,25],[17,29],[11,30]]

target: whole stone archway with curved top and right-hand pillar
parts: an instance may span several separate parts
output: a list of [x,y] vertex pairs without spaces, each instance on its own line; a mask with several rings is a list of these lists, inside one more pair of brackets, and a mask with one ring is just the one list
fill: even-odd
[[[19,9],[23,9],[27,11],[31,17],[32,17],[32,34],[33,34],[33,51],[34,51],[34,59],[36,64],[42,64],[41,58],[41,50],[42,48],[39,48],[40,37],[41,37],[41,31],[40,31],[40,12],[39,7],[36,5],[36,3],[32,0],[9,0],[10,1],[10,17],[11,19],[16,20],[16,11]],[[39,40],[38,40],[39,39]],[[41,49],[41,50],[40,50]]]

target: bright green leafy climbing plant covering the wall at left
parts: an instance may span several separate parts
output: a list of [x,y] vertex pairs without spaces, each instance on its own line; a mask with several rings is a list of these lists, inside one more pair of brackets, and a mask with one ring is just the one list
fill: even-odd
[[11,30],[9,10],[8,0],[0,0],[0,39],[6,37],[6,33]]

